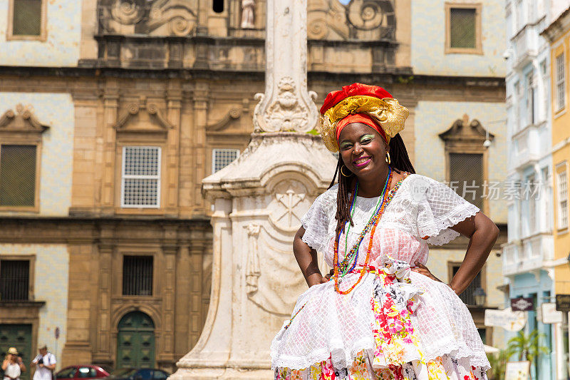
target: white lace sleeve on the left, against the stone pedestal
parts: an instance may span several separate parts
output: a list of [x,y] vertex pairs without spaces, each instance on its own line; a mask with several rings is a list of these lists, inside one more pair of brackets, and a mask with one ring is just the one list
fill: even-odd
[[[325,252],[328,244],[328,222],[331,212],[329,206],[331,203],[331,192],[333,190],[336,190],[336,188],[331,188],[319,195],[311,207],[309,207],[306,214],[301,217],[301,225],[303,225],[305,229],[301,240],[318,252]],[[336,202],[334,202],[334,205],[336,205]]]

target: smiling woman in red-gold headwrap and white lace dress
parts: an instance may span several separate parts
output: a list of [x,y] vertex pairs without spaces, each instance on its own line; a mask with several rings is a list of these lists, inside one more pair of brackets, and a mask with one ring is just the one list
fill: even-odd
[[[325,145],[339,150],[338,184],[317,197],[294,238],[309,290],[271,344],[275,379],[487,379],[457,294],[480,272],[497,226],[415,174],[398,134],[408,110],[388,91],[345,86],[328,94],[321,115]],[[427,245],[460,234],[470,238],[465,260],[443,284],[425,267]],[[319,271],[316,251],[332,276]]]

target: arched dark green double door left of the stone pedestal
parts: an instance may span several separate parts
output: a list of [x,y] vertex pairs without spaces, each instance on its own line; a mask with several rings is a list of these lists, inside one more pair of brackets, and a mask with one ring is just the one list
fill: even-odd
[[143,312],[120,319],[117,338],[117,369],[155,366],[155,324]]

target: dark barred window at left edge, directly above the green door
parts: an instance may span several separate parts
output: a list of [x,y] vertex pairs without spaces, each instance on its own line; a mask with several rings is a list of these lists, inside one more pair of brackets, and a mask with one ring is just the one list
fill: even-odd
[[0,299],[28,299],[29,260],[0,260]]

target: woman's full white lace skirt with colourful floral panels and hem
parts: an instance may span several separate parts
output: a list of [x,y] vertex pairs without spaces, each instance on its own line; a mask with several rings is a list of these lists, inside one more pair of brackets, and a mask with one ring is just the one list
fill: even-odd
[[[342,305],[346,306],[346,302],[352,302],[351,309],[356,310],[355,315],[366,314],[366,318],[361,317],[360,321],[368,321],[367,330],[371,332],[369,334],[371,339],[361,338],[362,334],[359,335],[358,331],[363,330],[361,326],[363,323],[355,322],[355,318],[350,316],[340,318],[343,322],[336,323],[334,319],[329,319],[328,322],[315,325],[314,320],[318,319],[315,316],[318,316],[319,312],[326,313],[326,310],[324,308],[316,310],[314,305],[322,303],[326,294],[318,294],[317,291],[313,292],[313,297],[301,296],[293,316],[285,322],[284,327],[281,328],[271,344],[274,379],[487,379],[486,370],[489,369],[489,365],[486,358],[481,359],[480,357],[482,356],[482,342],[480,342],[478,335],[479,342],[475,342],[475,339],[471,338],[466,339],[470,342],[469,344],[462,342],[464,349],[457,349],[459,345],[454,346],[455,342],[450,342],[450,344],[445,344],[441,354],[430,354],[429,357],[425,355],[424,347],[429,346],[429,339],[420,337],[413,321],[418,324],[415,311],[418,309],[418,305],[422,307],[422,303],[429,297],[422,297],[422,287],[411,282],[410,265],[407,262],[390,260],[390,262],[385,263],[385,267],[367,268],[366,270],[369,272],[368,274],[373,276],[363,282],[362,289],[368,292],[368,296],[362,291],[359,294],[355,289],[354,294],[334,294],[333,297],[337,309],[341,309]],[[330,292],[331,287],[329,286],[328,289]],[[315,295],[317,297],[314,297]],[[453,296],[456,297],[455,294]],[[432,297],[432,299],[437,302],[437,297]],[[333,301],[326,300],[324,303],[332,304]],[[440,303],[445,304],[442,300]],[[445,305],[440,306],[446,307]],[[461,306],[465,307],[462,304]],[[447,308],[450,309],[450,306],[447,305]],[[467,310],[465,313],[468,314]],[[337,314],[338,310],[336,310],[335,315]],[[450,339],[453,339],[454,336],[457,339],[462,339],[462,334],[459,332],[461,328],[456,326],[458,323],[461,322],[450,323],[453,329]],[[472,319],[470,323],[473,324]],[[337,332],[328,334],[327,331],[323,332],[323,329]],[[475,330],[475,325],[470,329]],[[346,331],[349,333],[344,334]],[[470,333],[471,335],[467,335],[467,337],[472,337],[473,332],[470,331]],[[307,349],[307,351],[311,351],[310,355],[298,354],[299,351],[304,351],[304,347],[311,346],[315,339],[326,334],[332,337],[330,339],[331,344],[328,344],[328,353],[326,349]],[[344,337],[344,339],[340,339],[342,341],[340,344],[345,344],[346,340],[351,340],[346,337],[355,337],[356,343],[350,347],[345,344],[348,347],[347,349],[338,349],[338,342],[340,341],[337,339],[336,345],[333,342],[337,335]],[[297,344],[303,339],[308,343]],[[475,348],[471,349],[469,345],[475,346]],[[361,348],[358,349],[358,347]],[[357,350],[358,353],[356,354],[347,354],[347,352],[354,353]],[[317,354],[315,355],[314,352]],[[339,352],[341,353],[339,354]],[[328,359],[323,355],[328,356]],[[474,357],[470,356],[478,357],[474,360]],[[310,359],[299,361],[299,358],[306,359],[307,357]]]

